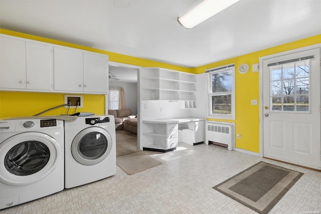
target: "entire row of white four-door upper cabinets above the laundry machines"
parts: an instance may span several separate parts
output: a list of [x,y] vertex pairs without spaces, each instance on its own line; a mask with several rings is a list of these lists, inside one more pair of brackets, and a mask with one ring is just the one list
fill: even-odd
[[0,35],[0,90],[108,94],[108,56]]

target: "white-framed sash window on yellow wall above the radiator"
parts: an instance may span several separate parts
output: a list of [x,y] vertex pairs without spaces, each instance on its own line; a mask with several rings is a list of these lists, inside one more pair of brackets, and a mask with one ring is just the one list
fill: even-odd
[[234,65],[206,71],[209,78],[209,116],[235,119]]

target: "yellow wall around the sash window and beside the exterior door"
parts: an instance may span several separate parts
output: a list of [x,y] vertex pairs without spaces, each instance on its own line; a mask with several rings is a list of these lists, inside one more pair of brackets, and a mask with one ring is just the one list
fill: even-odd
[[[259,58],[302,48],[321,43],[321,35],[303,40],[287,43],[262,51],[246,54],[243,56],[211,63],[194,69],[194,73],[204,73],[205,70],[223,65],[235,64],[235,120],[216,120],[235,123],[235,134],[240,133],[241,139],[235,139],[235,146],[253,152],[259,152],[259,72],[252,72],[252,64],[259,63]],[[246,74],[240,74],[238,67],[247,63],[250,70]],[[257,100],[257,105],[251,105],[251,100]],[[207,118],[207,120],[213,120]]]

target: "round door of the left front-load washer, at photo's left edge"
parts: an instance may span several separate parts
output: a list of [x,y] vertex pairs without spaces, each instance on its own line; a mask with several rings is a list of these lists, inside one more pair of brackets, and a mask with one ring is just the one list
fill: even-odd
[[47,134],[25,132],[0,144],[0,181],[27,185],[46,177],[63,157],[60,144]]

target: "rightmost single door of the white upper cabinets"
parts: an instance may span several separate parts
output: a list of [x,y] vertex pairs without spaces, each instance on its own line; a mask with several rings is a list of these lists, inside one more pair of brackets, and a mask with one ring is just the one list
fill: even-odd
[[108,93],[108,57],[84,53],[84,91]]

